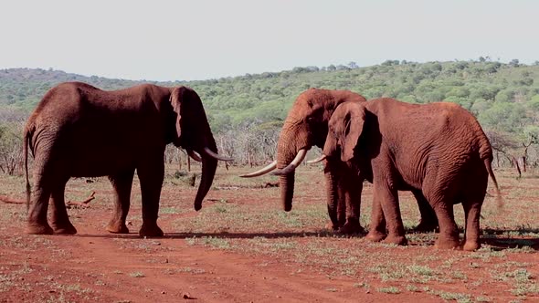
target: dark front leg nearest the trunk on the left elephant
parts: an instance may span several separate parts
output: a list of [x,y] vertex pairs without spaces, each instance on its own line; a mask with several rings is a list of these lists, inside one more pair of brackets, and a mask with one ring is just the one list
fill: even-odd
[[148,159],[147,162],[144,162],[137,168],[137,173],[141,181],[141,194],[143,196],[143,226],[139,235],[163,236],[163,231],[157,225],[159,196],[164,179],[163,153],[155,161]]

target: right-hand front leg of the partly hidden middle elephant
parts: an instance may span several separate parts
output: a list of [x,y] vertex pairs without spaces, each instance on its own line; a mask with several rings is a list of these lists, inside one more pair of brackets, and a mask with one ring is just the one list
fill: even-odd
[[365,234],[361,226],[361,192],[363,190],[363,178],[351,176],[343,180],[344,203],[346,204],[346,220],[339,232],[343,234]]

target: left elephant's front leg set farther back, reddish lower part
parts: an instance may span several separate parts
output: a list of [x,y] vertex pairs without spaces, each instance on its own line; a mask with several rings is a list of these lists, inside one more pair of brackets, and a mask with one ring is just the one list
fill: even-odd
[[129,234],[125,224],[129,213],[132,179],[134,169],[109,176],[114,188],[114,213],[107,225],[107,231],[113,234]]

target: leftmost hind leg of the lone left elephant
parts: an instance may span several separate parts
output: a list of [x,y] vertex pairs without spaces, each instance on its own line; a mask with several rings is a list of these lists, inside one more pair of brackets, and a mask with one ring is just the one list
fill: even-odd
[[[40,158],[36,163],[42,162]],[[36,164],[37,165],[37,164]],[[32,192],[32,204],[28,213],[26,233],[30,235],[52,235],[53,230],[47,222],[48,199],[51,189],[48,177],[43,168],[34,170],[34,190]]]

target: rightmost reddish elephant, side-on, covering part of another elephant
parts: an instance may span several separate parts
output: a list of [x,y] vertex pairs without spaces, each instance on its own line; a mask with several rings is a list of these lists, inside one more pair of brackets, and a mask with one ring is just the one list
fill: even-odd
[[453,204],[459,203],[465,214],[462,248],[480,247],[489,176],[501,195],[491,169],[491,143],[469,111],[448,102],[419,105],[390,98],[343,103],[329,121],[322,152],[373,183],[367,239],[406,245],[397,191],[420,190],[438,217],[436,247],[460,248],[453,216]]

